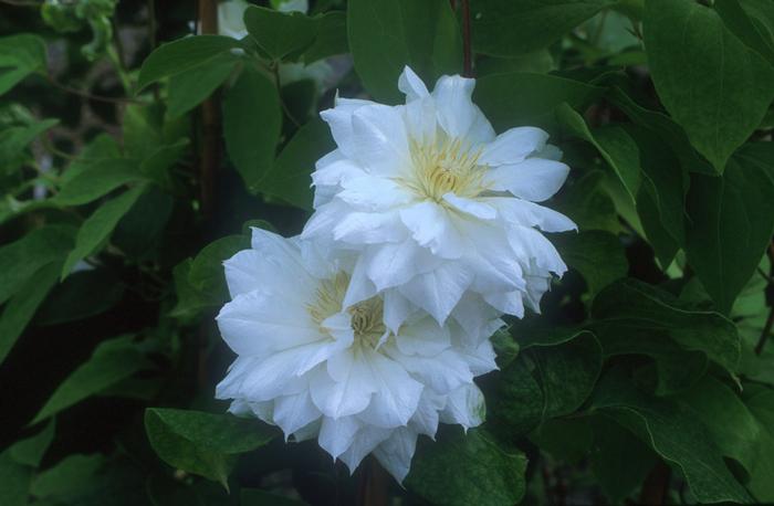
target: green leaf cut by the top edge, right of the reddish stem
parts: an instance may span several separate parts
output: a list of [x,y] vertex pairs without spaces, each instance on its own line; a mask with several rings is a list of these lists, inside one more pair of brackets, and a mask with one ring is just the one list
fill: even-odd
[[547,48],[614,0],[472,0],[477,52],[512,56]]

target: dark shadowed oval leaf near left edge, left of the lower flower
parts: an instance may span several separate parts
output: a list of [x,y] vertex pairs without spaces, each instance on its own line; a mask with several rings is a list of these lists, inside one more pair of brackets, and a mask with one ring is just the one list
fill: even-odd
[[100,315],[118,304],[125,287],[105,268],[75,272],[51,291],[35,314],[35,325],[59,325]]

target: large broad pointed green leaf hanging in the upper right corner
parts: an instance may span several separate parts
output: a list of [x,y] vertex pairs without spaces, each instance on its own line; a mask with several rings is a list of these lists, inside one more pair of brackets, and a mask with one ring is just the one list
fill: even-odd
[[661,102],[722,173],[774,98],[774,68],[692,0],[649,0],[644,25]]

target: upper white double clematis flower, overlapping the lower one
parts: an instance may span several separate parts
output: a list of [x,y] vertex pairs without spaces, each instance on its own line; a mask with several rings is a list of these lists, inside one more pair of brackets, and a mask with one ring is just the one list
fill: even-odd
[[566,266],[537,230],[575,229],[534,202],[567,177],[540,128],[495,135],[471,101],[475,82],[442,76],[430,93],[406,67],[406,104],[337,98],[322,117],[337,149],[313,173],[303,238],[358,255],[345,305],[383,293],[395,330],[418,306],[471,334],[492,316],[540,310]]

